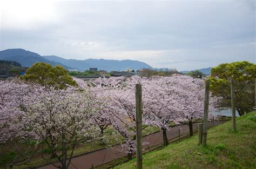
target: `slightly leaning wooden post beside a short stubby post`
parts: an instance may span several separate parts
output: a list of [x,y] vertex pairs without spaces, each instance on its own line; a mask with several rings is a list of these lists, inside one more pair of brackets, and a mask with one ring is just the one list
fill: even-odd
[[202,144],[203,145],[206,145],[206,139],[207,139],[209,92],[210,92],[210,82],[206,81],[205,82],[204,119],[203,119],[203,137],[202,137]]

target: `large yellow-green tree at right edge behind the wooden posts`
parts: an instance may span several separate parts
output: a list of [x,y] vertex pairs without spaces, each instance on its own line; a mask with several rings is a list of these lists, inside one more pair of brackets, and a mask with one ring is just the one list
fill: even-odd
[[219,97],[220,107],[231,107],[230,79],[234,80],[235,108],[240,116],[251,112],[255,100],[256,64],[242,61],[220,64],[211,69],[210,90]]

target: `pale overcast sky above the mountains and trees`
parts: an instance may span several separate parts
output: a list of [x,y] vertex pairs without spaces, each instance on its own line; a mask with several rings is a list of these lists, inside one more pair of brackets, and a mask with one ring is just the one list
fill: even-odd
[[1,0],[0,50],[194,70],[255,63],[256,1]]

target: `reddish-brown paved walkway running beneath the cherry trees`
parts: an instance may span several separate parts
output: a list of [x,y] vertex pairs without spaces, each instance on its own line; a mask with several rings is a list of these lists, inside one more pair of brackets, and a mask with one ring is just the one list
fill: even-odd
[[[215,121],[214,125],[222,124],[221,121]],[[212,126],[212,122],[208,122],[208,126]],[[197,124],[193,125],[193,129],[197,129]],[[188,125],[182,125],[182,130],[180,134],[184,134],[189,132]],[[167,138],[173,139],[178,137],[178,127],[172,127],[171,130],[167,131]],[[158,145],[160,143],[163,143],[163,135],[161,132],[157,132],[154,134],[151,134],[148,137],[143,137],[143,141],[146,141],[147,145],[144,145],[143,148],[147,148],[147,146],[152,147],[155,145]],[[114,159],[118,159],[121,157],[127,156],[127,153],[119,152],[118,150],[121,149],[120,145],[115,145],[112,147],[112,149],[104,148],[102,150],[94,151],[91,153],[86,153],[82,156],[73,157],[71,160],[71,163],[69,168],[78,168],[78,169],[86,169],[86,168],[92,168],[93,166],[99,166],[105,163],[108,163],[110,161],[113,161]],[[57,165],[59,165],[58,162],[56,162]],[[40,167],[41,169],[55,169],[53,165],[46,165],[43,167]]]

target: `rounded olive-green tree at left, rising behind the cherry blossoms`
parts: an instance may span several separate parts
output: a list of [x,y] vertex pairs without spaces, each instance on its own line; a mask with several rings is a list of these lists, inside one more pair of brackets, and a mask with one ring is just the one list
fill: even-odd
[[75,80],[68,75],[68,71],[62,66],[52,67],[52,65],[44,62],[33,64],[21,78],[28,82],[38,83],[46,87],[53,86],[57,89],[65,89],[67,85],[77,86]]

